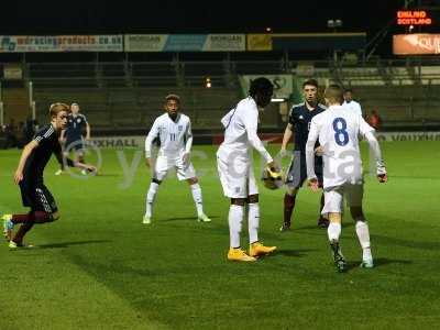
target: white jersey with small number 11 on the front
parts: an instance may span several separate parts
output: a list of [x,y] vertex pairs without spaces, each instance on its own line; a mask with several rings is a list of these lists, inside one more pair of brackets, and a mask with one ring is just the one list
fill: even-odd
[[168,113],[164,113],[154,121],[146,143],[158,138],[161,142],[160,154],[172,156],[182,153],[185,150],[187,139],[191,136],[191,121],[188,116],[178,113],[174,121]]

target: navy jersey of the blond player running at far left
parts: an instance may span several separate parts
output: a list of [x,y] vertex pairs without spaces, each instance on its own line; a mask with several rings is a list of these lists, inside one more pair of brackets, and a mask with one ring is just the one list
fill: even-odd
[[51,155],[54,153],[58,162],[62,161],[62,146],[59,144],[59,133],[52,124],[38,130],[33,140],[38,143],[24,164],[23,177],[31,180],[43,180],[43,170]]

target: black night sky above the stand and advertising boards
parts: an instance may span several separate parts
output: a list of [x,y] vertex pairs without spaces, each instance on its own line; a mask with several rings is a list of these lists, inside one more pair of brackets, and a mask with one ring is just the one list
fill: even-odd
[[[440,32],[440,0],[414,0],[409,8],[417,8],[418,2],[431,9],[435,24],[417,28],[416,32]],[[273,33],[331,32],[327,21],[341,19],[339,32],[366,32],[367,41],[385,31],[378,52],[389,54],[391,35],[405,33],[405,28],[395,24],[396,11],[404,3],[405,0],[4,1],[0,35],[263,33],[268,26]]]

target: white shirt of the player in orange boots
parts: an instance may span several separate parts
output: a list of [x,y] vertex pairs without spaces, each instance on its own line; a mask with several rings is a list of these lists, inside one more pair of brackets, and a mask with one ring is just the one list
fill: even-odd
[[253,98],[242,99],[221,119],[221,123],[224,127],[224,141],[220,145],[221,152],[248,153],[253,146],[267,163],[273,161],[256,134],[258,108]]

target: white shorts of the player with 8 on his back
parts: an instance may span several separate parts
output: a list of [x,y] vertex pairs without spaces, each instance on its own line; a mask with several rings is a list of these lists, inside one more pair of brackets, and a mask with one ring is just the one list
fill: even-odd
[[343,186],[324,188],[324,206],[321,215],[342,213],[344,197],[349,207],[362,207],[363,195],[364,185],[345,184]]

